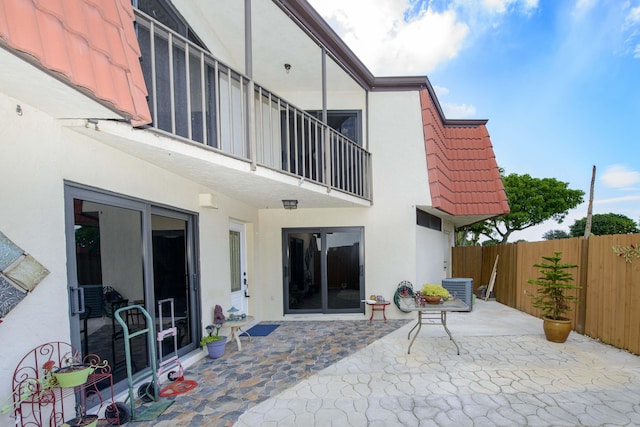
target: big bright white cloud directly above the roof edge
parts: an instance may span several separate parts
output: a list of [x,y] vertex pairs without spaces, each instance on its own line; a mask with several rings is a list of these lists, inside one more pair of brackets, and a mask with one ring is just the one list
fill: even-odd
[[428,74],[455,58],[474,37],[512,11],[529,14],[539,0],[431,1],[309,0],[360,60],[377,76]]

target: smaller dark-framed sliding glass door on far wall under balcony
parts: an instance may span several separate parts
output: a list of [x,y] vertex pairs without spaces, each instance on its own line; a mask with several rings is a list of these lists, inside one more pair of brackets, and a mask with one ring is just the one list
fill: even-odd
[[361,313],[363,233],[359,227],[283,230],[285,313]]

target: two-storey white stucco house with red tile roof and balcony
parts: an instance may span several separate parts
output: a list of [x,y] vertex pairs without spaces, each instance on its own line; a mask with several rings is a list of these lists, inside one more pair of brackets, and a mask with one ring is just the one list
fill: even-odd
[[46,269],[0,280],[0,395],[43,342],[118,368],[123,304],[172,306],[184,358],[216,304],[362,319],[508,212],[486,120],[373,76],[305,0],[131,3],[0,5],[0,232]]

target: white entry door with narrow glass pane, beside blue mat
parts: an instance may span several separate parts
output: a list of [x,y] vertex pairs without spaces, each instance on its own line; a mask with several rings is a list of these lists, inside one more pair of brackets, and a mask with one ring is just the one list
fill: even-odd
[[249,278],[247,277],[245,226],[238,222],[229,224],[229,259],[231,305],[238,314],[249,314]]

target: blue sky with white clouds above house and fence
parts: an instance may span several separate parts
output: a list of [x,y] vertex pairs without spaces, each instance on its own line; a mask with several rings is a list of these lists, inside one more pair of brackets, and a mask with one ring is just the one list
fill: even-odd
[[426,75],[450,119],[488,119],[507,174],[640,220],[640,0],[308,0],[375,76]]

